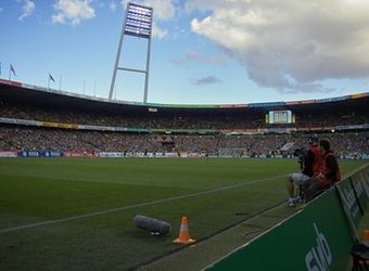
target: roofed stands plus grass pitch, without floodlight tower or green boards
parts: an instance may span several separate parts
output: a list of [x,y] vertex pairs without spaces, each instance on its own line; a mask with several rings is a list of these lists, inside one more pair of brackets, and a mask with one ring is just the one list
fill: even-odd
[[[309,136],[332,142],[346,176],[369,155],[367,93],[219,106],[112,102],[15,81],[1,81],[0,93],[3,270],[202,269],[297,210],[284,205],[284,179]],[[270,112],[293,117],[270,124]],[[136,228],[136,215],[168,221],[171,233]],[[173,243],[182,216],[193,256]]]

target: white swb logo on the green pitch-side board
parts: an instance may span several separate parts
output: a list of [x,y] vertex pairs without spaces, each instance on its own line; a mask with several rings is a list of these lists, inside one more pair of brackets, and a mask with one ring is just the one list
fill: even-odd
[[308,271],[326,271],[332,263],[332,254],[325,234],[318,231],[318,227],[314,223],[317,233],[317,246],[313,247],[305,256],[306,270]]

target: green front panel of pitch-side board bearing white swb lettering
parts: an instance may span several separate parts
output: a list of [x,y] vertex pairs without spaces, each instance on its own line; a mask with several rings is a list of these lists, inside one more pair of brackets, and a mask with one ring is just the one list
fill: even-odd
[[342,271],[352,245],[347,218],[331,189],[209,269]]

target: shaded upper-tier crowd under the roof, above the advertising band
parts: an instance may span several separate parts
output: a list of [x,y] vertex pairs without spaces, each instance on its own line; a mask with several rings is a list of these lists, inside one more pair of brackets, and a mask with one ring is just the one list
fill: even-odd
[[[54,121],[75,125],[109,127],[152,128],[152,129],[258,129],[273,126],[265,122],[265,114],[135,114],[132,112],[102,113],[81,112],[31,105],[17,105],[0,101],[0,117]],[[330,112],[323,115],[308,113],[297,114],[295,124],[279,127],[331,127],[369,124],[369,112]]]

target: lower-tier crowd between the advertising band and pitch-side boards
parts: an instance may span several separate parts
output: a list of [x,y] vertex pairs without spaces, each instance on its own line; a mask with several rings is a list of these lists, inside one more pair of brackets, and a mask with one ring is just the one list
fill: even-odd
[[[369,132],[325,133],[341,156],[369,155]],[[307,136],[160,136],[124,132],[82,131],[22,126],[0,126],[0,151],[127,152],[127,153],[205,153],[221,156],[221,150],[241,150],[238,155],[292,155],[306,146]],[[287,143],[291,147],[281,151]]]

